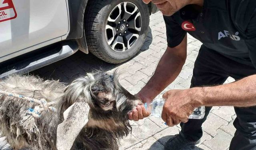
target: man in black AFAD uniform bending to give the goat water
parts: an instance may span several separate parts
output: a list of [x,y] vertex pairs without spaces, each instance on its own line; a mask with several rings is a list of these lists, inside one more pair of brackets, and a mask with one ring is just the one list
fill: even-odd
[[[168,126],[181,123],[182,127],[165,149],[197,144],[211,106],[234,106],[236,133],[230,150],[256,150],[256,0],[143,1],[153,2],[163,13],[168,42],[156,72],[137,94],[143,102],[152,101],[180,73],[186,60],[187,33],[203,43],[191,88],[163,95],[162,119]],[[228,76],[236,82],[222,85]],[[188,120],[198,106],[206,106],[204,119]],[[144,106],[128,115],[135,121],[147,116]]]

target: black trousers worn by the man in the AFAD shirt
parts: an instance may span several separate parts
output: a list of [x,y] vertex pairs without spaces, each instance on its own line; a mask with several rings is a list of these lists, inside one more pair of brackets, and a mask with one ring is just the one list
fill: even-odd
[[[253,74],[256,74],[256,69],[253,66],[230,60],[202,45],[195,62],[191,88],[223,84],[229,76],[239,80]],[[206,107],[204,119],[190,119],[187,123],[180,124],[181,132],[188,140],[197,141],[202,137],[202,124],[211,108]],[[256,150],[256,107],[234,107],[234,109],[237,115],[234,120],[236,132],[231,141],[230,150]]]

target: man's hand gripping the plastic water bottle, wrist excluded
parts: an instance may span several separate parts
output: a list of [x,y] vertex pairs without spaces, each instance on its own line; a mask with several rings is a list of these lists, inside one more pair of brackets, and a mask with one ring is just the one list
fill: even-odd
[[200,104],[196,104],[192,97],[194,98],[191,89],[170,90],[164,93],[163,98],[166,102],[162,111],[162,119],[168,126],[188,122],[188,117],[192,114],[194,108],[200,106]]

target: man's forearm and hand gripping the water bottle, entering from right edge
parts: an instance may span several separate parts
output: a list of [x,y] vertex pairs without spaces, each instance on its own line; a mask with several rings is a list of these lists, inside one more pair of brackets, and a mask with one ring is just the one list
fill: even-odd
[[256,106],[256,75],[220,86],[170,90],[164,94],[162,119],[168,126],[187,122],[199,106]]

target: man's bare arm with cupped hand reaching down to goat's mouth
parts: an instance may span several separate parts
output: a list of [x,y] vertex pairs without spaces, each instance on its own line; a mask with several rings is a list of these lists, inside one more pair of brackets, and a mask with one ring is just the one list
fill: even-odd
[[[164,88],[172,83],[180,74],[182,66],[186,61],[187,56],[187,36],[184,37],[182,42],[174,47],[168,47],[166,52],[160,59],[156,71],[152,78],[148,81],[146,86],[138,92],[142,101],[151,102]],[[138,106],[128,115],[130,120],[138,121],[147,117],[149,114],[146,112],[144,106]]]

